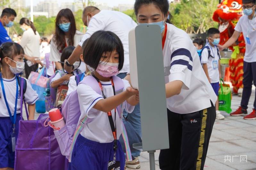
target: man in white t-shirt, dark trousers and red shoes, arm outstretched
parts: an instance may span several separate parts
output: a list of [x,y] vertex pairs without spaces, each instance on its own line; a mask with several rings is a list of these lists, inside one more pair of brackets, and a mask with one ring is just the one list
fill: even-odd
[[[244,119],[256,119],[256,99],[253,103],[252,113],[247,115],[248,102],[252,93],[252,82],[256,85],[256,3],[255,0],[243,0],[243,12],[238,23],[235,26],[235,32],[232,37],[219,49],[223,50],[231,46],[238,39],[240,33],[244,34],[245,55],[244,55],[244,79],[243,79],[243,96],[241,106],[231,116],[245,115]],[[256,96],[256,95],[255,95]]]

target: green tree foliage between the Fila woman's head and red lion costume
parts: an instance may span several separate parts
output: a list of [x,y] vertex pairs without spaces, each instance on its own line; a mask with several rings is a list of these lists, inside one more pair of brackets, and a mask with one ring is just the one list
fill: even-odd
[[172,22],[187,33],[204,33],[211,27],[218,27],[212,20],[219,0],[182,0],[170,4]]

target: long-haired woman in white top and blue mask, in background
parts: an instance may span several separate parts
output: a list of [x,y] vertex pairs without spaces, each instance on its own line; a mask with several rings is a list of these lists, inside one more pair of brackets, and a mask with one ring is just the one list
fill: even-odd
[[[50,61],[55,62],[56,69],[61,70],[61,53],[67,46],[77,46],[83,38],[83,33],[76,29],[75,17],[68,8],[59,11],[55,21],[55,33],[51,41]],[[79,69],[85,71],[85,64]]]

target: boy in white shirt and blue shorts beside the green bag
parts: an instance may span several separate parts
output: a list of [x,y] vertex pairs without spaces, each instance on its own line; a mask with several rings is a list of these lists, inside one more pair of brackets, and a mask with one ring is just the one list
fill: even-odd
[[[211,83],[215,94],[219,95],[219,79],[220,74],[220,55],[217,45],[219,44],[219,30],[210,28],[207,32],[208,43],[202,50],[201,63],[203,70]],[[210,52],[210,53],[209,53]],[[216,119],[224,119],[225,117],[219,112],[219,98],[215,103],[216,106]]]

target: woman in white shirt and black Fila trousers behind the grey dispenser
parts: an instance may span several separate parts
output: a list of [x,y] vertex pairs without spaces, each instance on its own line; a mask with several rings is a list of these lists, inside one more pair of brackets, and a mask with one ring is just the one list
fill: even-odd
[[168,0],[136,0],[134,8],[139,25],[161,27],[170,149],[161,150],[160,168],[203,169],[217,96],[190,37],[169,24]]

